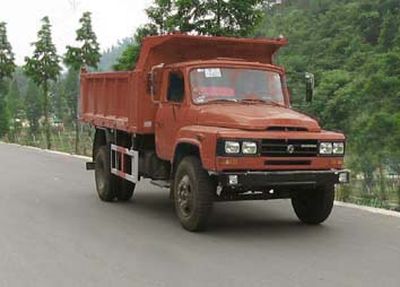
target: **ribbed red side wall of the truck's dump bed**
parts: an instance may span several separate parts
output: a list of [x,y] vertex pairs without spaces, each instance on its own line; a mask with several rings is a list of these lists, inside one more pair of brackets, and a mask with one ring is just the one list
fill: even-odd
[[146,125],[149,121],[145,119],[153,117],[154,104],[150,97],[145,102],[141,101],[143,95],[147,95],[143,75],[138,71],[82,71],[80,120],[130,133],[152,133],[152,127]]

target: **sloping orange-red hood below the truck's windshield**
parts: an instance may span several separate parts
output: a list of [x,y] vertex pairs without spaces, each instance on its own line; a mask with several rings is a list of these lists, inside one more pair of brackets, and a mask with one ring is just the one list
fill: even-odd
[[309,116],[285,107],[265,104],[210,104],[201,106],[198,123],[242,130],[268,128],[300,128],[319,132],[318,122]]

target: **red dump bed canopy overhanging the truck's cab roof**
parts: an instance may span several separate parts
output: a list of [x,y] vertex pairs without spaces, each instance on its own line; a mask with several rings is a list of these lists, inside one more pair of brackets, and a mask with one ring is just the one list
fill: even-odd
[[275,52],[285,46],[285,38],[249,39],[187,34],[150,36],[143,40],[136,69],[180,62],[240,58],[249,62],[272,64]]

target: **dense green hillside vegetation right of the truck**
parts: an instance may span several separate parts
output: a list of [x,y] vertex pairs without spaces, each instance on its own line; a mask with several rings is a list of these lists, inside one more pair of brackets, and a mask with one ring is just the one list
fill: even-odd
[[[386,199],[384,179],[400,174],[400,1],[286,1],[266,13],[256,35],[289,39],[278,60],[294,106],[346,133],[347,165],[365,179],[365,192],[378,181]],[[316,76],[309,106],[305,71]]]

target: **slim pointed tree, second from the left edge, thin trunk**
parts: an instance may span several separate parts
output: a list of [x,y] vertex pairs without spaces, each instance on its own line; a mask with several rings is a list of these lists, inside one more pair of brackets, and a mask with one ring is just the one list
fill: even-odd
[[50,20],[47,16],[42,19],[38,40],[32,45],[35,47],[33,56],[25,58],[24,70],[27,76],[42,89],[46,144],[47,148],[51,149],[49,85],[52,81],[57,80],[61,67],[59,65],[60,57],[57,55],[57,50],[51,37]]

